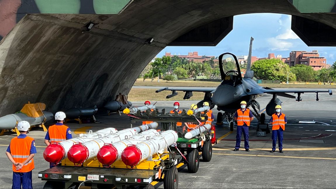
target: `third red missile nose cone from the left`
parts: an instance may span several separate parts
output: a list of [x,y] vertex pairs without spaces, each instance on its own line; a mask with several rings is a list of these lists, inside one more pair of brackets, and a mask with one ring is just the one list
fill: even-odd
[[100,148],[97,154],[97,159],[103,165],[110,166],[116,161],[118,156],[118,151],[114,146],[105,145]]

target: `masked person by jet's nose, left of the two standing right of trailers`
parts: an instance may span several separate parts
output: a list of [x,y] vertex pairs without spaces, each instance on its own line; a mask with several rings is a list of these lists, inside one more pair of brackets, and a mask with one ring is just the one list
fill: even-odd
[[253,120],[253,114],[250,109],[246,108],[246,102],[241,101],[240,107],[234,115],[235,121],[237,122],[237,136],[236,136],[236,147],[233,151],[238,151],[240,148],[240,140],[242,133],[244,135],[244,147],[245,151],[249,152],[249,126],[250,122]]

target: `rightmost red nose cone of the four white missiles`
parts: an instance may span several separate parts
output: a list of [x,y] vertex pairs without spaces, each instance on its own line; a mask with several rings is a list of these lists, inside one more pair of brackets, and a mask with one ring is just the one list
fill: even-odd
[[127,166],[135,166],[141,160],[141,151],[135,146],[126,147],[121,154],[121,160]]

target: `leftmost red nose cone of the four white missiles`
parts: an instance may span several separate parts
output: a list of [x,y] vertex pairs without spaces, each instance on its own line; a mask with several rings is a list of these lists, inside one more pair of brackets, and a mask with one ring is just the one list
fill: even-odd
[[64,155],[64,148],[59,144],[50,144],[43,152],[44,159],[50,163],[60,162]]

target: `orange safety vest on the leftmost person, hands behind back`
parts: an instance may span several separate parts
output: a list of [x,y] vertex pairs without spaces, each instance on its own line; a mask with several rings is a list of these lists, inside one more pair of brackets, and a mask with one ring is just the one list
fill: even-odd
[[[32,137],[27,136],[26,138],[15,137],[10,141],[10,153],[15,162],[23,163],[28,158],[33,140]],[[34,159],[32,158],[20,170],[16,171],[16,167],[13,165],[13,172],[27,173],[34,168]]]

